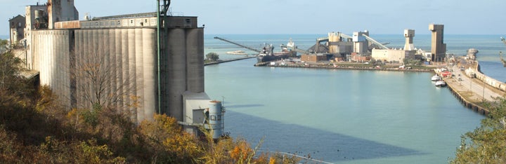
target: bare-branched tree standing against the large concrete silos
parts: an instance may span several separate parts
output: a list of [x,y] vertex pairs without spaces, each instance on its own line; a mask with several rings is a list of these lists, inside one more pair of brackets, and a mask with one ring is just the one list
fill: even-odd
[[[124,55],[111,53],[107,46],[91,41],[86,50],[76,50],[70,56],[74,68],[70,67],[70,76],[77,90],[78,108],[93,109],[98,105],[103,108],[128,109],[136,106],[139,97],[135,96],[136,74],[123,74],[131,71],[131,67],[119,64],[126,60]],[[121,56],[121,58],[116,58]],[[128,113],[129,110],[122,111]]]

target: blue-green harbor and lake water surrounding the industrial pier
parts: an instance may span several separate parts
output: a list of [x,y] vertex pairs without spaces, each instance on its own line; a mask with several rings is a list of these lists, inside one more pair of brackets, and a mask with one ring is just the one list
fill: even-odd
[[[206,54],[240,57],[226,52],[242,48],[213,36],[205,36]],[[306,49],[325,35],[219,36],[257,47],[292,38]],[[402,35],[372,38],[398,48],[404,41]],[[505,46],[498,38],[446,35],[445,42],[455,55],[479,49],[481,70],[502,75],[506,68],[498,62],[498,52]],[[415,47],[429,50],[429,43],[429,35],[415,36]],[[435,88],[431,73],[253,67],[255,62],[206,66],[205,90],[224,100],[226,131],[253,146],[264,138],[261,151],[330,163],[446,163],[455,156],[460,136],[484,118],[463,107],[447,88]],[[506,80],[502,78],[498,80]]]

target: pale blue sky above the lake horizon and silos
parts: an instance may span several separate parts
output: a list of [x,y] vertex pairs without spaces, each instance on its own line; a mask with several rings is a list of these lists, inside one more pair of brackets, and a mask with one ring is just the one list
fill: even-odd
[[[0,0],[0,35],[8,20],[37,0]],[[40,4],[46,3],[44,0]],[[79,18],[156,11],[155,0],[74,0]],[[503,0],[172,0],[175,15],[197,16],[205,34],[327,34],[369,30],[371,34],[506,34]]]

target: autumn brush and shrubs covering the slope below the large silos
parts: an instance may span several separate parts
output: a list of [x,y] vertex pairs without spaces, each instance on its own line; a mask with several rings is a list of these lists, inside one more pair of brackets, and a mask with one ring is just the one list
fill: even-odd
[[256,154],[245,139],[195,137],[175,118],[136,125],[98,104],[67,109],[47,86],[19,76],[22,61],[0,54],[0,163],[294,163]]

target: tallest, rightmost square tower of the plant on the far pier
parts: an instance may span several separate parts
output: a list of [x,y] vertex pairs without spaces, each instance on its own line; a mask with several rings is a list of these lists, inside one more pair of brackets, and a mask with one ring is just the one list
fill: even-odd
[[443,43],[443,29],[444,25],[429,25],[429,30],[432,32],[432,61],[443,61],[446,56],[446,43]]

